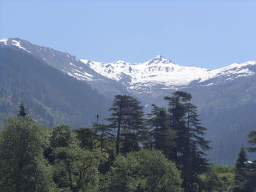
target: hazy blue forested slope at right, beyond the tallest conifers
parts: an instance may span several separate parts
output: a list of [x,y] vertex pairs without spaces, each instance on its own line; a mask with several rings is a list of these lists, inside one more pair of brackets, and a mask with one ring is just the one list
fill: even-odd
[[248,146],[249,131],[255,129],[256,76],[186,91],[194,96],[202,123],[208,128],[206,138],[212,141],[208,157],[216,164],[234,165],[240,147]]

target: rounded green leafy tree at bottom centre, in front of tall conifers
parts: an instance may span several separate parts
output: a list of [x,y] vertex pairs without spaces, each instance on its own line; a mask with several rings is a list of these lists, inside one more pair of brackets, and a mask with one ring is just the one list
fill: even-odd
[[156,150],[118,155],[105,178],[105,191],[110,192],[182,191],[175,164]]

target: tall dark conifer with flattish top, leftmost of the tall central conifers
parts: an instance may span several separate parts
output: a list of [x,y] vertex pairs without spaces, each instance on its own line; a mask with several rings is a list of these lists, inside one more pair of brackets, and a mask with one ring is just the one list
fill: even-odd
[[[143,107],[131,96],[116,95],[109,110],[111,128],[116,129],[116,154],[138,150],[140,136],[143,134]],[[122,147],[120,150],[120,144]]]

